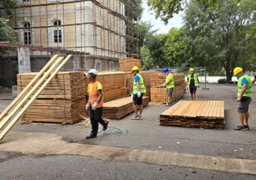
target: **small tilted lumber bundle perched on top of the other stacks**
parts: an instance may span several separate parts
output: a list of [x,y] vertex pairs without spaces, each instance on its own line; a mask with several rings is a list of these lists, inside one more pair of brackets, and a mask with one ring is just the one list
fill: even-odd
[[131,72],[134,66],[138,66],[139,71],[142,70],[140,59],[136,58],[120,58],[119,59],[120,71]]

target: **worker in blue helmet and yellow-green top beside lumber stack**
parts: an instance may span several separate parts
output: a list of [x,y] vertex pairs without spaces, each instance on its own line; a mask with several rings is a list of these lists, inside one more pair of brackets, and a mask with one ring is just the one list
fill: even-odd
[[165,83],[163,83],[163,87],[166,87],[167,89],[167,97],[168,101],[165,105],[169,106],[172,105],[172,95],[173,95],[173,89],[174,89],[174,81],[173,81],[173,75],[171,75],[168,68],[163,70],[163,73],[165,73]]

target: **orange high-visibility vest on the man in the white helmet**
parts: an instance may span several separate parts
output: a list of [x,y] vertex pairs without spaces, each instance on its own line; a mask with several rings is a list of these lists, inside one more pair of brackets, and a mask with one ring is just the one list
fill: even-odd
[[[99,97],[99,91],[97,90],[97,84],[99,83],[99,81],[95,81],[93,83],[93,87],[91,88],[91,83],[89,83],[88,85],[88,93],[89,93],[89,101],[91,103],[91,106],[93,106],[93,103],[95,103]],[[101,85],[101,87],[103,87]],[[91,91],[90,91],[91,89]],[[103,107],[103,96],[101,98],[101,100],[99,101],[99,103],[97,104],[97,107]]]

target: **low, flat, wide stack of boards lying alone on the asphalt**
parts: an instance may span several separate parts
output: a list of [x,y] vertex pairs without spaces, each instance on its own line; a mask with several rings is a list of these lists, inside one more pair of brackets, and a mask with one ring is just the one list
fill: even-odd
[[224,129],[224,101],[179,101],[159,121],[163,126]]

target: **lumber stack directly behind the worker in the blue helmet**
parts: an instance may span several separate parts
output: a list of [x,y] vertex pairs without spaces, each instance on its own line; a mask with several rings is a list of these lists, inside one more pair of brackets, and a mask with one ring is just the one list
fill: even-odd
[[[184,79],[183,73],[172,73],[174,81],[174,89],[172,101],[176,101],[184,96]],[[151,101],[154,103],[166,103],[168,101],[166,87],[161,87],[165,82],[165,74],[158,73],[151,75]]]

